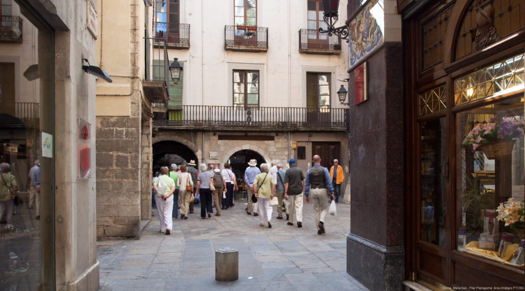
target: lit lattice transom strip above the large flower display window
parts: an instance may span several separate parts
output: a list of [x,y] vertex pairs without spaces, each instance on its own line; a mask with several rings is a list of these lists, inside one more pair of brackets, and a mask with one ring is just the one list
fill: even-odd
[[523,91],[523,56],[509,58],[454,80],[454,105]]

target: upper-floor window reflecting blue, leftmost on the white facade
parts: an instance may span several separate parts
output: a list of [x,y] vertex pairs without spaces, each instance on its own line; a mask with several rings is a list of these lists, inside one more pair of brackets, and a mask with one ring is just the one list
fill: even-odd
[[155,32],[157,37],[165,37],[164,33],[178,33],[179,0],[156,0],[155,2]]

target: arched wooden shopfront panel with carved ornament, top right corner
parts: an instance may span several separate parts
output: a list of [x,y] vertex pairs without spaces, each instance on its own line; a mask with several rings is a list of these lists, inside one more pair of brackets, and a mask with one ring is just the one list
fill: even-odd
[[[523,5],[522,1],[472,1],[456,37],[456,59],[475,53],[525,28]],[[477,21],[485,24],[478,27]]]

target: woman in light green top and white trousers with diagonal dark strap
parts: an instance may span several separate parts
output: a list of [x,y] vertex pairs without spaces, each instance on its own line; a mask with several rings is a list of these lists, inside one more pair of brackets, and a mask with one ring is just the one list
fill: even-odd
[[261,164],[261,173],[255,176],[251,183],[251,190],[254,190],[257,198],[257,207],[259,209],[260,226],[264,226],[265,214],[268,221],[268,228],[271,228],[271,213],[274,207],[270,206],[270,200],[274,198],[275,183],[274,178],[268,174],[268,164]]

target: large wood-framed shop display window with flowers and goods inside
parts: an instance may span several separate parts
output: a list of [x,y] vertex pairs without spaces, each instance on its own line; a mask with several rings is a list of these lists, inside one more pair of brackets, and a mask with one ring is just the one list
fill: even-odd
[[456,115],[456,250],[521,269],[523,121],[523,89]]

